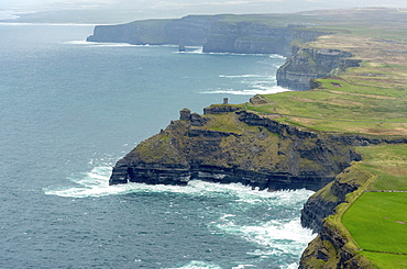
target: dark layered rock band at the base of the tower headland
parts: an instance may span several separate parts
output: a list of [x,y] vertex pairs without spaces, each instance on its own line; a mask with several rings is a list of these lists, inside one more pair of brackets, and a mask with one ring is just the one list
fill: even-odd
[[173,184],[186,186],[190,180],[202,180],[216,183],[243,183],[258,190],[296,190],[308,189],[317,191],[332,181],[332,178],[317,175],[304,175],[293,177],[284,172],[258,173],[254,171],[217,166],[184,167],[162,165],[135,165],[133,167],[113,167],[109,184],[122,184],[128,182],[147,184]]

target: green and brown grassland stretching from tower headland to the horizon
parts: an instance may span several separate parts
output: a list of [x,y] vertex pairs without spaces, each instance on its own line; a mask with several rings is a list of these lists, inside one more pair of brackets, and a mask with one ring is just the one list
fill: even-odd
[[399,31],[407,27],[404,12],[312,14],[301,22],[311,24],[318,16],[318,25],[309,27],[334,34],[302,46],[351,52],[362,66],[319,79],[321,87],[312,91],[264,96],[268,105],[248,109],[322,132],[407,135],[407,32]]

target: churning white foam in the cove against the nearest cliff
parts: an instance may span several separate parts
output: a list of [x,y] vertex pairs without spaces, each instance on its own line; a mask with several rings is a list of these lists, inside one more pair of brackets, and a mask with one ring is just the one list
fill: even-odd
[[[276,191],[276,192],[239,192],[240,202],[263,206],[264,212],[277,210],[278,212],[299,212],[305,201],[312,194],[312,191]],[[248,206],[244,206],[248,208]],[[260,209],[260,208],[253,208]],[[268,209],[268,210],[267,210]],[[299,255],[307,244],[315,238],[312,231],[301,227],[299,217],[293,220],[293,215],[271,216],[268,220],[254,217],[249,223],[244,220],[245,211],[224,214],[217,222],[215,227],[222,233],[239,236],[253,243],[255,250],[250,255],[261,258],[278,257],[284,255]],[[244,217],[243,217],[244,216]],[[274,220],[271,220],[274,218]],[[219,233],[219,232],[218,232]],[[287,265],[282,268],[294,268],[297,264]]]

